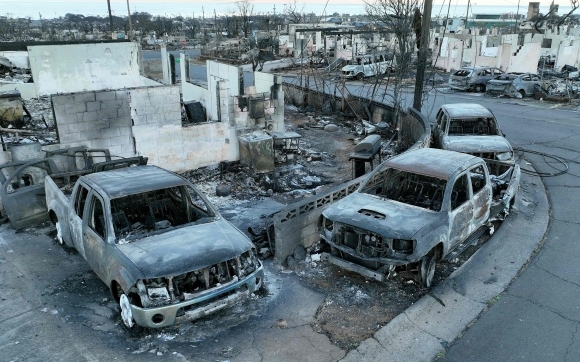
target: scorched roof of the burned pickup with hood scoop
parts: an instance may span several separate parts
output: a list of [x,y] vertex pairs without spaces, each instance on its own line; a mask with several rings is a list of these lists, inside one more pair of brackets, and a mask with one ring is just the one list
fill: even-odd
[[462,167],[471,166],[478,157],[436,148],[407,151],[383,163],[383,167],[434,176],[447,180]]

